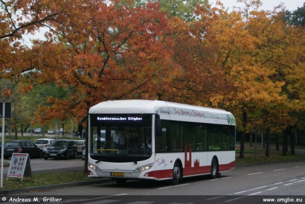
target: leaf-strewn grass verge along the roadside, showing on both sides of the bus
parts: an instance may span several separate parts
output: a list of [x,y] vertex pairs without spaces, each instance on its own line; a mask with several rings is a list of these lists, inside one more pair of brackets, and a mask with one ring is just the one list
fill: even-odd
[[[281,161],[298,161],[305,160],[305,155],[290,155],[282,156],[282,151],[270,150],[270,156],[265,156],[265,149],[257,148],[257,155],[255,158],[254,147],[245,147],[245,157],[239,158],[239,148],[236,147],[236,165],[255,165],[261,163],[272,163]],[[81,181],[93,181],[97,180],[94,178],[88,178],[87,173],[83,171],[80,172],[54,172],[48,174],[32,174],[33,180],[29,177],[24,177],[22,182],[17,178],[6,178],[3,181],[4,189],[18,189],[26,187],[37,187],[46,186],[54,184],[65,184],[71,182],[81,182]],[[100,178],[102,179],[102,178]]]

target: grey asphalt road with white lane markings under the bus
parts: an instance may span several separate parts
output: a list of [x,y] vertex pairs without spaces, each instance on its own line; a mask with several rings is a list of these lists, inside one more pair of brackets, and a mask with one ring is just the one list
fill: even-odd
[[[185,178],[179,185],[169,182],[130,180],[88,186],[71,186],[16,193],[29,198],[61,198],[65,203],[265,203],[265,198],[305,200],[305,161],[237,167],[210,180]],[[67,196],[70,195],[70,196]],[[277,200],[276,200],[277,201]],[[274,202],[274,200],[273,200]],[[279,202],[279,201],[278,201]],[[281,203],[281,202],[280,202]]]

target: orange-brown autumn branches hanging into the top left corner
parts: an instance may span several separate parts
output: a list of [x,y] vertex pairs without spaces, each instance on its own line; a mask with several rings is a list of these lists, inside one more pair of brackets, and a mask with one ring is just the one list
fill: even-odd
[[[0,69],[1,79],[34,69],[23,37],[35,33],[41,27],[62,22],[65,5],[71,1],[1,1],[0,2]],[[73,1],[72,1],[73,2]]]

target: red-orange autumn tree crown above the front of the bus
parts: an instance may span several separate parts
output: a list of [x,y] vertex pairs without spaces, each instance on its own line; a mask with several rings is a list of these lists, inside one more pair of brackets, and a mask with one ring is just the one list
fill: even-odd
[[[53,28],[56,38],[36,41],[33,48],[39,56],[39,72],[31,73],[36,83],[74,89],[69,99],[48,97],[49,106],[39,110],[46,112],[44,119],[67,118],[67,111],[80,119],[103,100],[154,98],[159,89],[153,84],[168,72],[171,55],[159,4],[130,8],[119,1],[84,1],[67,9],[73,15]],[[31,88],[33,81],[26,84]]]

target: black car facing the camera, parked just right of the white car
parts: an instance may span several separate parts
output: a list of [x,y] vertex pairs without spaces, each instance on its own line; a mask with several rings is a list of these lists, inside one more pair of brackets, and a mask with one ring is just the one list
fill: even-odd
[[44,159],[77,158],[77,146],[73,140],[55,140],[44,150]]

